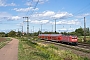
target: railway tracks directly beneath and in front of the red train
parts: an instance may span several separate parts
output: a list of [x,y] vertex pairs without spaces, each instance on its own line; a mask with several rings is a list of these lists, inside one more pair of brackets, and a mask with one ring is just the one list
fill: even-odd
[[73,46],[73,45],[70,45],[70,44],[57,43],[55,41],[43,40],[43,42],[44,43],[51,43],[51,44],[55,44],[55,45],[60,45],[60,46],[68,47],[68,48],[71,48],[71,49],[79,50],[79,51],[82,51],[82,52],[90,53],[90,44],[78,43],[77,46]]

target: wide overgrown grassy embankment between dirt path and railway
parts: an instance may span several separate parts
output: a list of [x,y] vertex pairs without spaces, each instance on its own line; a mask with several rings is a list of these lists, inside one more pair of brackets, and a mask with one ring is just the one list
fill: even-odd
[[35,43],[32,40],[19,39],[18,60],[88,60],[73,54],[71,51],[60,50],[53,44]]

